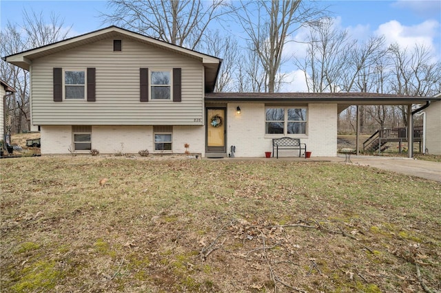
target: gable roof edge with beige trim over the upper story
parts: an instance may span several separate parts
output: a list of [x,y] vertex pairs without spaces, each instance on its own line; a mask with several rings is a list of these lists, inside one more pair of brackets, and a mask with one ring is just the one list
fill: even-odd
[[175,54],[181,54],[189,58],[196,58],[200,60],[205,67],[205,88],[208,92],[214,90],[214,85],[216,83],[222,59],[196,52],[194,50],[189,50],[185,47],[160,41],[150,36],[138,34],[130,30],[125,30],[123,28],[116,27],[115,25],[111,25],[110,27],[96,30],[94,32],[89,32],[87,34],[81,34],[80,36],[74,36],[73,38],[58,41],[49,45],[44,45],[42,47],[37,47],[31,50],[19,52],[17,54],[12,54],[10,56],[3,57],[3,60],[13,65],[17,65],[18,67],[21,67],[23,69],[29,70],[30,65],[32,64],[32,60],[34,59],[62,52],[64,50],[69,50],[75,47],[80,47],[82,45],[94,43],[96,41],[101,41],[103,39],[110,39],[115,37],[125,37],[127,39],[132,39],[134,41],[139,41],[141,43],[158,47],[162,50],[174,52]]

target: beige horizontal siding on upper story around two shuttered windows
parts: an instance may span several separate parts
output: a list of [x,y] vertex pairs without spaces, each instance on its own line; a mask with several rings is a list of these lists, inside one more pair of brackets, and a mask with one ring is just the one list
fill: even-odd
[[[121,38],[120,38],[121,39]],[[52,68],[96,68],[96,102],[52,97]],[[139,101],[139,68],[182,69],[182,102]],[[63,125],[201,125],[203,74],[200,60],[123,39],[113,52],[113,39],[39,58],[32,62],[34,124]]]

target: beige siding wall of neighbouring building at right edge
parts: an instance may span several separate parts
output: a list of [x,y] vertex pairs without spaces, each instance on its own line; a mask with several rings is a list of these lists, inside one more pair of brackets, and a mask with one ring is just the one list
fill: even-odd
[[431,155],[441,155],[441,101],[432,102],[426,111],[426,148]]

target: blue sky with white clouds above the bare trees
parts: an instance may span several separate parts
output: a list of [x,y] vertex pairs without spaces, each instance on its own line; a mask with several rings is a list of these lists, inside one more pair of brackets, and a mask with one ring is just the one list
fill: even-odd
[[[354,39],[363,41],[369,36],[384,34],[387,44],[398,43],[400,47],[424,44],[437,60],[441,60],[440,0],[345,0],[320,1],[320,4],[328,6],[336,25],[349,30]],[[0,27],[4,28],[8,21],[21,24],[24,9],[43,11],[46,16],[50,12],[59,14],[67,28],[72,25],[70,36],[107,26],[99,18],[100,12],[107,11],[106,1],[0,0]],[[227,25],[224,28],[235,34],[235,27]],[[305,32],[298,31],[296,39],[302,39],[302,33]]]

